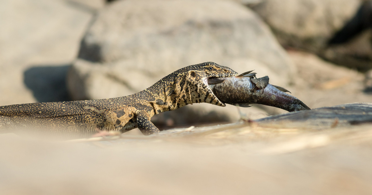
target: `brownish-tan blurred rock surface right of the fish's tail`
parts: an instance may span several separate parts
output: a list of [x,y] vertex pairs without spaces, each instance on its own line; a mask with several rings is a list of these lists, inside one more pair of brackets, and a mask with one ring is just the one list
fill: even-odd
[[289,51],[298,69],[292,95],[310,108],[355,102],[372,102],[365,93],[365,76],[305,52]]

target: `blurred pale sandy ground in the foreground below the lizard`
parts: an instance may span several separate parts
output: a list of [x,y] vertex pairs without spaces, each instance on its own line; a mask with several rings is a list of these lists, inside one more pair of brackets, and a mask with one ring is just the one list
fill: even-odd
[[[110,141],[0,135],[1,194],[371,194],[372,125],[235,123]],[[217,129],[217,130],[216,130]]]

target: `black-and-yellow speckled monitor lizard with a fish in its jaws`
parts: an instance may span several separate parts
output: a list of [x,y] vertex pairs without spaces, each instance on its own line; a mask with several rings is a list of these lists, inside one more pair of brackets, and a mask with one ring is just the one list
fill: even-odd
[[[225,106],[208,87],[207,78],[235,76],[228,67],[205,62],[179,69],[136,94],[102,100],[15,104],[0,107],[0,132],[35,127],[35,133],[69,133],[79,137],[100,130],[139,128],[144,135],[159,132],[154,114],[193,103]],[[47,129],[47,130],[45,130]]]

